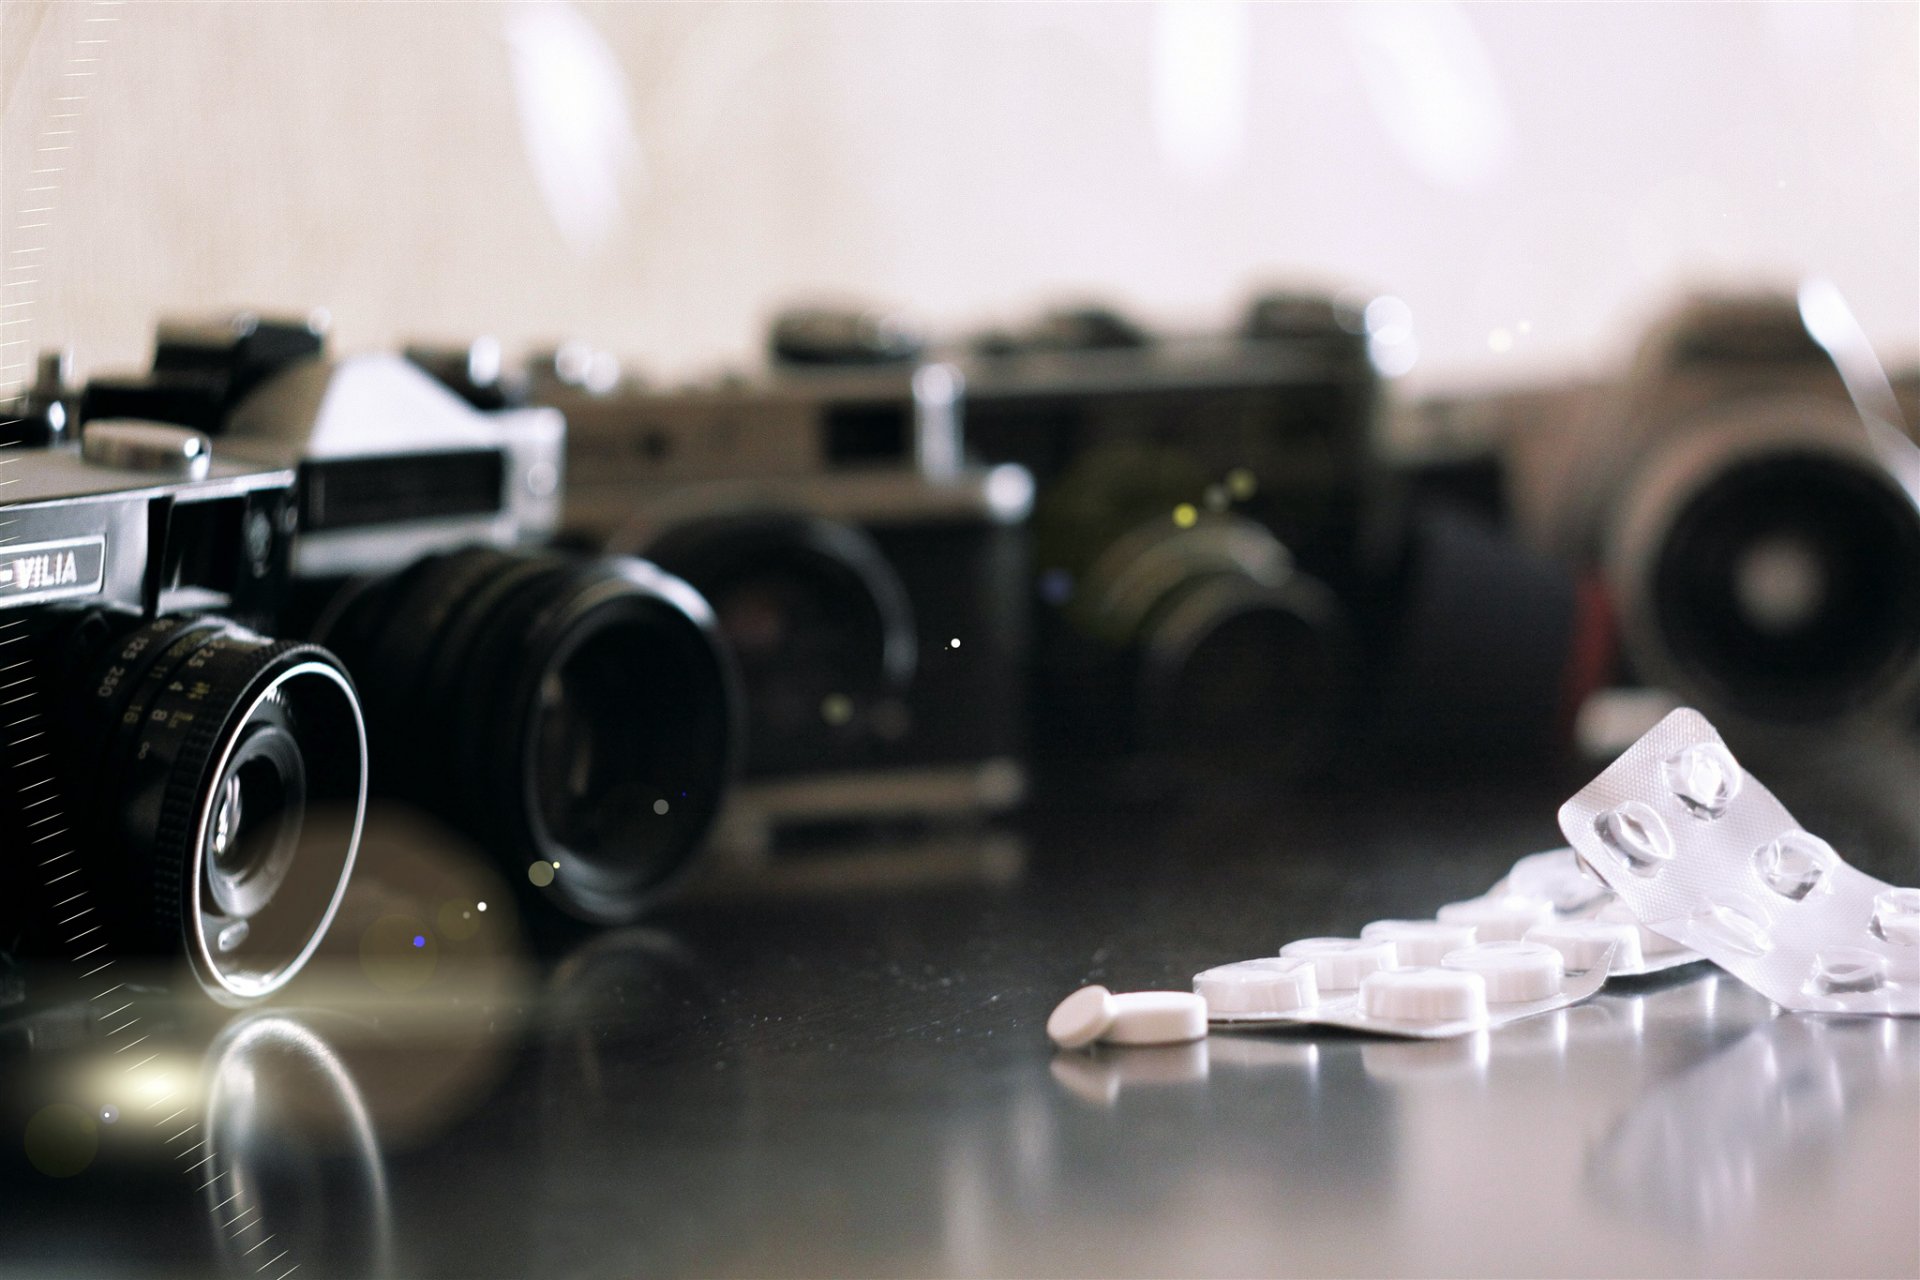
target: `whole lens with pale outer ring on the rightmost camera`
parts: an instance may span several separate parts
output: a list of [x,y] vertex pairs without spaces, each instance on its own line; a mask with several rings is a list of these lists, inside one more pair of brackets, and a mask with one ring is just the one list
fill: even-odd
[[1644,674],[1703,704],[1807,723],[1920,702],[1920,493],[1843,405],[1676,432],[1628,487],[1607,572]]

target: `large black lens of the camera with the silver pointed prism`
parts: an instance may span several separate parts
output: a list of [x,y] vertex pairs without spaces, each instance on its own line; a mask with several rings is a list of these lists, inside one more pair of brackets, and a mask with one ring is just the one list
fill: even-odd
[[361,681],[374,787],[522,865],[570,915],[630,921],[699,852],[739,699],[682,580],[474,547],[349,583],[317,639]]

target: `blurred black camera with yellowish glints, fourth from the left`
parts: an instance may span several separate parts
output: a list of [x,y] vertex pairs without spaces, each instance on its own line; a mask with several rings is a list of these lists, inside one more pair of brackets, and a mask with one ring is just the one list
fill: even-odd
[[1273,297],[1240,332],[1179,338],[1060,313],[962,368],[970,455],[1037,484],[1037,754],[1131,777],[1311,768],[1375,581],[1363,315]]

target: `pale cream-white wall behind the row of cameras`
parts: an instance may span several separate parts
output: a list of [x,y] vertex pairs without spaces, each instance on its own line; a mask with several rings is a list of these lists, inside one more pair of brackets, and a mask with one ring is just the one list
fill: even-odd
[[1799,273],[1905,363],[1916,13],[12,0],[0,380],[52,342],[136,363],[182,309],[680,372],[818,292],[1198,326],[1311,278],[1404,297],[1436,386],[1594,367],[1682,282]]

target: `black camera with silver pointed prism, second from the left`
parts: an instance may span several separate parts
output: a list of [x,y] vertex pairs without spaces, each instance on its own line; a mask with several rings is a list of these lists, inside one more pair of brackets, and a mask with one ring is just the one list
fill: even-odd
[[328,359],[319,326],[253,317],[163,326],[150,376],[88,384],[84,416],[127,413],[298,470],[292,618],[363,691],[376,791],[595,923],[687,867],[732,773],[732,672],[684,581],[547,549],[559,413],[478,411],[409,361]]

